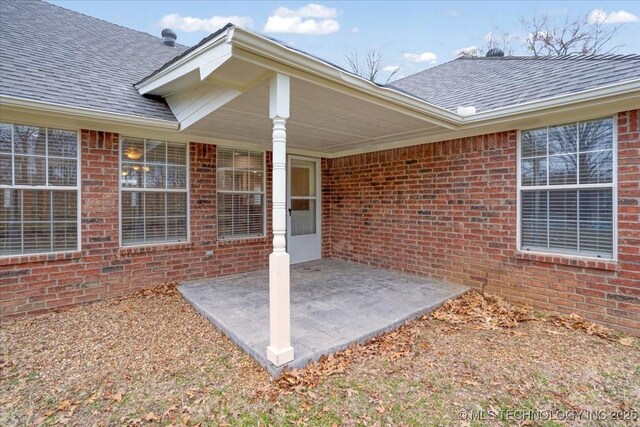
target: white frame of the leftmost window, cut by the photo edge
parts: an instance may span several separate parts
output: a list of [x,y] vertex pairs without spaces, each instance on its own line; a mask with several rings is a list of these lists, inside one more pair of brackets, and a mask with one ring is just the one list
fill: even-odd
[[[69,129],[64,127],[55,127],[55,126],[41,126],[33,123],[14,123],[14,122],[3,122],[11,125],[11,184],[0,184],[0,191],[4,190],[35,190],[35,191],[76,191],[76,236],[77,236],[77,245],[74,249],[67,249],[64,251],[48,251],[48,252],[29,252],[24,253],[24,227],[21,227],[20,232],[20,246],[21,253],[19,254],[7,254],[0,255],[0,258],[20,258],[20,257],[29,257],[29,256],[38,256],[38,255],[51,255],[51,254],[69,254],[73,252],[78,252],[82,250],[82,164],[80,163],[81,159],[81,150],[82,150],[82,135],[78,129]],[[29,127],[38,127],[42,128],[45,131],[45,185],[15,185],[16,176],[15,176],[15,141],[14,141],[14,126],[29,126]],[[48,185],[49,184],[49,129],[56,130],[64,130],[68,132],[76,133],[76,185],[75,187],[71,186],[60,186],[60,185]],[[36,156],[41,157],[41,156]],[[58,158],[58,157],[55,157]],[[70,157],[65,157],[69,159]],[[21,205],[22,206],[22,205]],[[24,206],[21,207],[21,210],[24,209]],[[53,215],[53,212],[50,212],[50,215]],[[24,218],[24,215],[22,215]],[[50,219],[51,226],[53,226],[53,220]],[[51,244],[53,245],[53,233],[51,233]]]

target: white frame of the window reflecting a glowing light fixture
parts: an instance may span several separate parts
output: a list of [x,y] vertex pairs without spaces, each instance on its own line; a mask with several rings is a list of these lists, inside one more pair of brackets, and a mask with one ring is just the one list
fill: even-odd
[[[185,145],[185,155],[186,159],[186,181],[187,186],[183,190],[181,188],[166,188],[166,180],[168,179],[168,175],[165,175],[165,188],[137,188],[137,187],[123,187],[122,186],[122,147],[123,140],[125,138],[135,138],[144,140],[144,151],[147,149],[147,140],[153,141],[162,141],[166,144],[166,149],[168,150],[169,143],[172,144],[184,144]],[[118,139],[118,244],[120,249],[128,249],[128,248],[137,248],[137,247],[150,247],[150,246],[166,246],[166,245],[181,245],[181,244],[189,244],[191,243],[191,144],[188,142],[182,143],[179,141],[169,141],[165,139],[159,138],[144,138],[140,136],[133,135],[120,135]],[[145,153],[146,155],[146,153]],[[165,167],[168,163],[165,162]],[[122,240],[122,193],[185,193],[187,198],[187,212],[186,212],[186,222],[187,222],[187,238],[185,240],[167,240],[164,242],[149,242],[149,243],[133,243],[133,244],[125,244]],[[166,206],[166,199],[165,199]],[[166,211],[165,211],[166,217]]]

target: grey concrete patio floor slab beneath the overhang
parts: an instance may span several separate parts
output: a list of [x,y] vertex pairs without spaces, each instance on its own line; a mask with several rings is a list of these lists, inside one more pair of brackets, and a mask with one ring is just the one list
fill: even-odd
[[268,270],[189,282],[180,292],[272,375],[364,342],[434,310],[463,286],[322,259],[291,266],[291,342],[295,359],[275,367],[269,345]]

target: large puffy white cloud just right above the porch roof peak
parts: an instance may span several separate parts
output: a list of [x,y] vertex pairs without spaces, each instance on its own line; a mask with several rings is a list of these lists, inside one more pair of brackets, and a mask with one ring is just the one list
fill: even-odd
[[338,16],[337,9],[315,3],[309,3],[297,10],[279,7],[267,18],[263,31],[308,35],[331,34],[340,30],[340,23],[333,19],[336,16]]

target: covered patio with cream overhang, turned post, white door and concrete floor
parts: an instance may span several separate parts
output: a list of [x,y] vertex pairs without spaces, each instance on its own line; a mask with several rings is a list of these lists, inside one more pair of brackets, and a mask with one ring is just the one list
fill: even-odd
[[[141,95],[163,98],[180,131],[188,129],[219,147],[272,153],[271,189],[254,195],[258,201],[263,195],[271,198],[271,230],[264,228],[273,238],[269,269],[182,289],[198,310],[271,372],[366,340],[462,291],[318,260],[321,159],[460,136],[459,114],[232,25],[135,87]],[[236,156],[232,168],[242,153],[229,154]],[[251,174],[264,177],[259,175],[263,169],[257,169]],[[249,174],[248,169],[230,171],[233,179],[228,182],[242,182],[233,188],[248,194],[256,185],[244,184],[249,182],[245,172]],[[259,182],[257,187],[264,188]],[[309,260],[318,261],[290,268]]]

